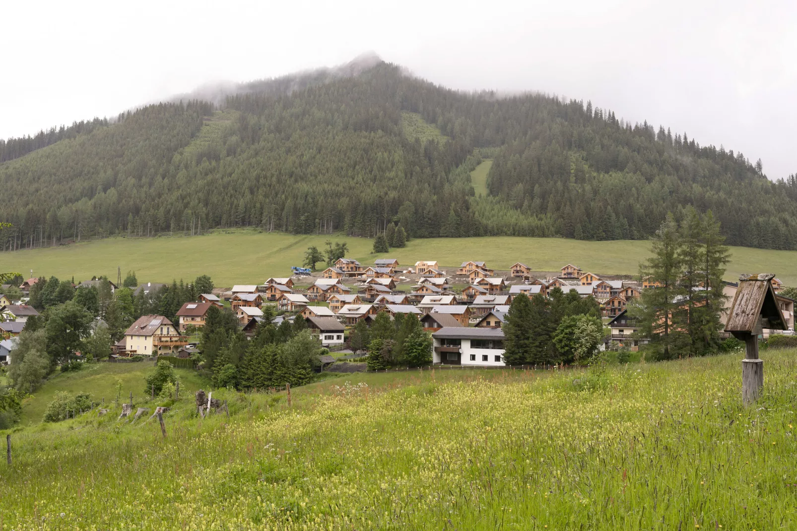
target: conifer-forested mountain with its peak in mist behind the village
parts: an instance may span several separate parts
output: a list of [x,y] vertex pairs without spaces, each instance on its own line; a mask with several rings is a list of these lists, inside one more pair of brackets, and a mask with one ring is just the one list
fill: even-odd
[[[685,133],[383,62],[301,76],[150,105],[0,163],[2,247],[231,226],[372,236],[391,220],[414,238],[647,238],[694,205],[729,244],[797,249],[795,177],[772,183]],[[475,197],[469,171],[488,157],[489,195]]]

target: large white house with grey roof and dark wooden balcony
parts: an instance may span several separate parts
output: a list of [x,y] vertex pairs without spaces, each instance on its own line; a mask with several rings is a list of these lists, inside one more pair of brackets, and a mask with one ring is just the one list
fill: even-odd
[[504,367],[504,331],[501,328],[446,327],[432,334],[432,361],[444,365]]

